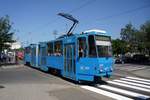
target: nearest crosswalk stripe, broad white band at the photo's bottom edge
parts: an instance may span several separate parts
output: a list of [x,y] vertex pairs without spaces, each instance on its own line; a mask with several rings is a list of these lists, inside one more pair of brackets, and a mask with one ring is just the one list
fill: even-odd
[[98,88],[95,88],[95,87],[92,87],[92,86],[81,86],[81,88],[84,88],[86,90],[89,90],[89,91],[92,91],[92,92],[95,92],[95,93],[98,93],[98,94],[102,94],[104,96],[111,97],[111,98],[116,99],[116,100],[133,100],[131,98],[121,96],[121,95],[118,95],[118,94],[115,94],[115,93],[111,93],[111,92],[108,92],[108,91],[104,91],[104,90],[101,90],[101,89],[98,89]]

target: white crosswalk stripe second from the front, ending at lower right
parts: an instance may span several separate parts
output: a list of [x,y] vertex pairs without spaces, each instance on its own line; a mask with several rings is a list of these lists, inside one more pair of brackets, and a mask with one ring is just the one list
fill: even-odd
[[112,91],[115,91],[115,92],[119,92],[119,93],[122,93],[122,94],[126,94],[128,96],[140,97],[141,99],[150,98],[147,95],[143,95],[143,94],[139,94],[139,93],[135,93],[135,92],[131,92],[131,91],[115,88],[115,87],[112,87],[112,86],[98,85],[98,87],[103,88],[103,89],[107,89],[107,90],[112,90]]

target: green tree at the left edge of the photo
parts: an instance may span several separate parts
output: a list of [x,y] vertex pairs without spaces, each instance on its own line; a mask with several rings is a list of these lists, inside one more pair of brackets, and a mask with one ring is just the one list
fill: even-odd
[[0,53],[4,49],[10,47],[10,43],[15,42],[13,40],[12,24],[10,23],[9,17],[0,18]]

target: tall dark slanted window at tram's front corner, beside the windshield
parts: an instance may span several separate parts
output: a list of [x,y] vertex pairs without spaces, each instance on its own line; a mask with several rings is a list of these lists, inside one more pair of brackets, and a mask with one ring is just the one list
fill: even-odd
[[88,44],[89,44],[89,57],[96,57],[96,47],[93,35],[89,35]]

